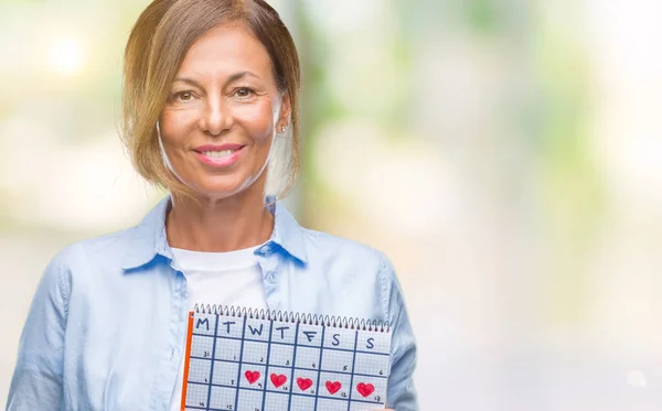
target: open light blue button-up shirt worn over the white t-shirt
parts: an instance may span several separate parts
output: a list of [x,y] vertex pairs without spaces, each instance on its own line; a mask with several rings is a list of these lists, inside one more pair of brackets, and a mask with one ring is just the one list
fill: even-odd
[[[167,411],[184,355],[188,293],[172,268],[164,198],[136,227],[62,250],[23,328],[8,410]],[[416,345],[388,259],[302,228],[281,204],[256,256],[269,310],[388,321],[387,405],[417,410]]]

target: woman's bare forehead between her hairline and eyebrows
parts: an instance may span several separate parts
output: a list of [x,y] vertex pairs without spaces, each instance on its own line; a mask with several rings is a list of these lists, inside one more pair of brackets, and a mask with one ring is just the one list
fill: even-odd
[[273,82],[267,50],[243,24],[225,24],[207,31],[189,48],[179,69],[179,74],[217,78],[237,72],[253,72]]

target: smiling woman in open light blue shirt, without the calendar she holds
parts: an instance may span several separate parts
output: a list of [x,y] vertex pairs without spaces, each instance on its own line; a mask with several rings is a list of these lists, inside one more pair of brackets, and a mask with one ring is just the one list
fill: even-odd
[[299,61],[261,0],[154,0],[125,61],[124,141],[169,190],[138,226],[49,264],[9,410],[179,410],[195,303],[388,321],[387,407],[416,410],[416,347],[382,253],[300,227]]

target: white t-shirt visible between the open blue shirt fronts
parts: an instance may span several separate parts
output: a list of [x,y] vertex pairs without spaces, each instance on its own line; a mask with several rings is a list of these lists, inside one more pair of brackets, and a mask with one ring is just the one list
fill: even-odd
[[[254,251],[200,252],[173,248],[173,267],[184,273],[189,309],[195,304],[238,305],[266,309],[263,275]],[[184,359],[180,365],[170,410],[181,409]]]

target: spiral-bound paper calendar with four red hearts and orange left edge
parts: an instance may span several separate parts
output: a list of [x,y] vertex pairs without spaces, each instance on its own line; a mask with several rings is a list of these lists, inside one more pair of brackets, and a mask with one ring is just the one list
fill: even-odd
[[388,324],[199,306],[189,314],[181,410],[385,408]]

